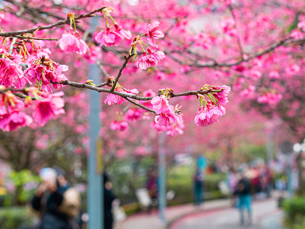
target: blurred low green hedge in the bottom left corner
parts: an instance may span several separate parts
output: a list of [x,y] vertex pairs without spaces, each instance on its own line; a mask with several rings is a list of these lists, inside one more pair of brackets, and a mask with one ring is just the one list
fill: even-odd
[[1,229],[16,229],[20,225],[30,226],[32,219],[24,206],[0,208]]

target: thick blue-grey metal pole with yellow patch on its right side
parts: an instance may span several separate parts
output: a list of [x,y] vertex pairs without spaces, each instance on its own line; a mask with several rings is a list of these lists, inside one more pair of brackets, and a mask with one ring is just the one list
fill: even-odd
[[[91,21],[91,28],[97,26],[98,19],[93,17]],[[96,64],[90,65],[89,79],[94,82],[99,82],[99,68]],[[96,91],[90,91],[90,147],[91,151],[88,158],[88,192],[87,192],[87,208],[89,214],[89,229],[103,229],[104,215],[103,215],[103,195],[102,188],[103,176],[101,165],[101,157],[99,154],[99,111],[100,111],[100,95]]]

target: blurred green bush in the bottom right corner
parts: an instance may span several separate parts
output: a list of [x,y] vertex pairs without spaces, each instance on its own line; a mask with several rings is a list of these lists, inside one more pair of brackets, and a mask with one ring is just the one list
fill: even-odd
[[305,229],[305,197],[286,199],[283,202],[285,223],[291,229]]

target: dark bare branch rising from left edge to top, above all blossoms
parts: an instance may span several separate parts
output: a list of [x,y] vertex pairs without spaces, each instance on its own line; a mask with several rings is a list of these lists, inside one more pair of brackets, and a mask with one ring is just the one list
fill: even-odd
[[[107,6],[103,6],[103,7],[100,7],[98,9],[92,10],[89,13],[80,14],[78,16],[75,16],[74,19],[78,20],[78,19],[82,19],[82,18],[86,18],[86,17],[95,16],[94,13],[99,12],[106,7]],[[0,36],[2,36],[2,37],[14,37],[16,35],[21,35],[21,34],[26,34],[26,33],[34,33],[35,31],[38,31],[38,30],[51,29],[53,27],[63,25],[63,24],[70,24],[70,18],[67,18],[66,20],[59,20],[56,23],[46,25],[46,26],[38,26],[38,27],[34,27],[32,29],[25,29],[25,30],[9,31],[9,32],[0,33]]]

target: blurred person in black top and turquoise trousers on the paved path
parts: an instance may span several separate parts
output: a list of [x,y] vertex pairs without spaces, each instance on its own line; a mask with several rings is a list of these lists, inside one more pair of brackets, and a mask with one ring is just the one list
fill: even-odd
[[249,224],[252,224],[252,213],[251,213],[252,197],[250,194],[250,183],[246,178],[244,172],[242,172],[241,176],[242,178],[239,180],[236,186],[236,190],[234,192],[235,195],[238,195],[240,223],[241,224],[245,223],[244,208],[246,208],[248,212]]

